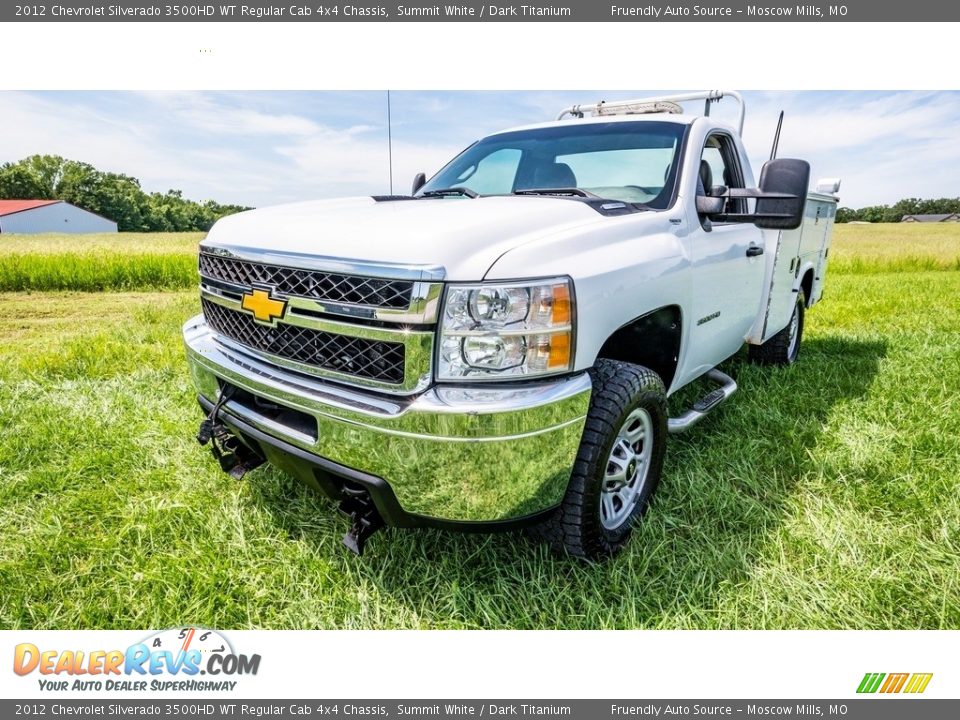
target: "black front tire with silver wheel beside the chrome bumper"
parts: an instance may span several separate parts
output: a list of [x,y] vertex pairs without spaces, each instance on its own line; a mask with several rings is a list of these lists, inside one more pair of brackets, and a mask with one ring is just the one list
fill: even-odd
[[558,552],[588,560],[618,553],[650,503],[663,468],[666,391],[652,370],[598,360],[566,495],[540,534]]

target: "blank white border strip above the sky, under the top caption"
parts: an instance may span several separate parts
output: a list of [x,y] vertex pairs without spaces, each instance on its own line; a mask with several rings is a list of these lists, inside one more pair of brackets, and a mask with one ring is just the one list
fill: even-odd
[[956,26],[23,23],[4,29],[0,88],[949,90]]

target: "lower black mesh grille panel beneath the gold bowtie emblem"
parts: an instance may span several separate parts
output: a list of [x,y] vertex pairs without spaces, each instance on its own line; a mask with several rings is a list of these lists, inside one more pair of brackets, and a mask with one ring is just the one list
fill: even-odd
[[203,315],[217,333],[269,355],[332,372],[400,385],[404,379],[405,346],[399,342],[369,340],[296,325],[256,322],[243,311],[206,298]]

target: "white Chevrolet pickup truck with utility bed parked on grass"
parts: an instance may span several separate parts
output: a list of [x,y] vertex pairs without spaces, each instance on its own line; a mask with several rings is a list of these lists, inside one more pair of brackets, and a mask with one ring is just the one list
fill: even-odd
[[269,461],[338,500],[356,552],[383,525],[526,524],[616,553],[667,434],[736,390],[717,366],[745,342],[794,362],[823,292],[839,181],[809,192],[806,162],[774,159],[755,185],[743,117],[722,91],[574,106],[410,195],[220,220],[183,331],[198,439],[236,477]]

